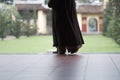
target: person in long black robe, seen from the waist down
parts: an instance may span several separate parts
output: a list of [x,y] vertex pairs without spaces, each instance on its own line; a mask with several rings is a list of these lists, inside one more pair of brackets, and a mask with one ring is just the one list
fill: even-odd
[[53,46],[57,54],[76,53],[84,44],[77,20],[75,0],[49,0],[52,8]]

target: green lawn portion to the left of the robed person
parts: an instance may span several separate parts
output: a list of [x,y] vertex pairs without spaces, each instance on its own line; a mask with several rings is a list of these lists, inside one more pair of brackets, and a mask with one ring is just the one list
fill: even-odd
[[31,36],[0,41],[0,53],[41,53],[52,48],[52,36]]

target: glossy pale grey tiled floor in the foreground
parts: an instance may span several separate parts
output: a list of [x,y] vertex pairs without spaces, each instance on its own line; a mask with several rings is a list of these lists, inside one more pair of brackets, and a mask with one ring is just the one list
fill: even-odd
[[0,55],[0,80],[120,80],[120,54]]

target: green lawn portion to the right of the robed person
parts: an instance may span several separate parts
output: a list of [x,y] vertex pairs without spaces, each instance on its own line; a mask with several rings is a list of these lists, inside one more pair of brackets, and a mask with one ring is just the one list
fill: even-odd
[[80,52],[120,52],[120,46],[111,38],[102,35],[84,36],[85,44]]

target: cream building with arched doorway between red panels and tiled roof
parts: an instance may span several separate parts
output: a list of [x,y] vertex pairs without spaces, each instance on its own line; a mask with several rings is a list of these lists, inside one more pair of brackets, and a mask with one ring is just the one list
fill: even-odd
[[103,21],[102,5],[80,5],[77,9],[77,15],[83,33],[101,33]]

